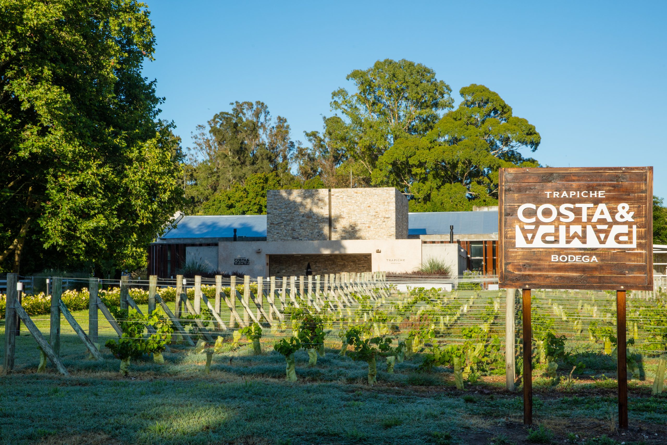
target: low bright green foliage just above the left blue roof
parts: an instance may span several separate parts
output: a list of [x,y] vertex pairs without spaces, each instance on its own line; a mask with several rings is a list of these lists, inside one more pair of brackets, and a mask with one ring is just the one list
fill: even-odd
[[280,189],[319,189],[324,184],[318,176],[301,182],[295,177],[285,183],[285,177],[278,173],[253,173],[245,179],[245,183],[235,183],[229,190],[215,193],[203,205],[201,215],[265,215],[266,193],[268,190]]

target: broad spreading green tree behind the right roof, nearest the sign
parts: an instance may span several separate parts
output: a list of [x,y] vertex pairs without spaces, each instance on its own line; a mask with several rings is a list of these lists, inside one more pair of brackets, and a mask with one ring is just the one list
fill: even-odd
[[498,203],[500,167],[537,167],[540,134],[498,93],[472,84],[463,101],[423,137],[404,137],[378,158],[373,183],[412,193],[412,211],[470,210]]

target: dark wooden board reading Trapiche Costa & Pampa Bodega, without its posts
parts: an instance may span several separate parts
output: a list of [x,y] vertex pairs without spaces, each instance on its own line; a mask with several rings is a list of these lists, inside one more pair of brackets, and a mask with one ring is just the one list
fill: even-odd
[[653,290],[653,167],[500,169],[500,287]]

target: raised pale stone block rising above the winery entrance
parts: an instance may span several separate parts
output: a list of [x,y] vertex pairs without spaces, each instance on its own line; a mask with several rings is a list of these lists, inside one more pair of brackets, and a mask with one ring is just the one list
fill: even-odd
[[[394,187],[331,189],[331,240],[408,238],[408,199]],[[269,190],[267,241],[329,240],[329,190]]]

